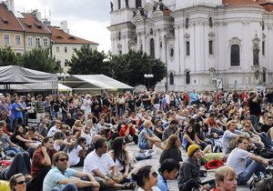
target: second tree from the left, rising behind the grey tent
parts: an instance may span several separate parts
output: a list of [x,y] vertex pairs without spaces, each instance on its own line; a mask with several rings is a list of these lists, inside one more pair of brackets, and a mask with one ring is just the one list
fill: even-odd
[[49,49],[35,47],[20,58],[23,67],[48,73],[62,72],[60,62],[49,56]]

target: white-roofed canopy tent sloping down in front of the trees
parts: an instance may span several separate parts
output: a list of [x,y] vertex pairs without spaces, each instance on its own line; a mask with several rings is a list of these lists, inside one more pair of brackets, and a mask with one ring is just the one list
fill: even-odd
[[106,75],[70,75],[64,79],[64,84],[73,90],[132,90],[134,87],[126,85]]

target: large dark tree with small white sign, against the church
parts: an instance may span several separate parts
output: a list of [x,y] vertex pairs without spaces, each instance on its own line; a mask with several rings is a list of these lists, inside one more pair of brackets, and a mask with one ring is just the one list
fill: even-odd
[[[114,69],[114,78],[128,85],[154,86],[167,74],[166,65],[142,51],[130,50],[125,55],[111,55],[109,67]],[[153,74],[153,78],[145,78],[145,74]]]

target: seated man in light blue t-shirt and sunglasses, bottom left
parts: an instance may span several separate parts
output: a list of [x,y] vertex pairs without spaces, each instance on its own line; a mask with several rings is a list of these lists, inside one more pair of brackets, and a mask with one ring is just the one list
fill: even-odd
[[[45,176],[43,191],[52,191],[53,188],[67,190],[68,187],[70,187],[70,190],[99,190],[99,184],[96,182],[94,176],[68,167],[68,155],[65,152],[57,152],[52,158],[52,163],[54,167]],[[86,178],[86,180],[71,178],[72,176]],[[74,185],[70,185],[69,183]]]

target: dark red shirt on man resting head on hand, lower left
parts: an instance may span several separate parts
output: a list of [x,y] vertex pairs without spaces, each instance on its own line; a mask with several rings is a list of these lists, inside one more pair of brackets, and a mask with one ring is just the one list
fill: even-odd
[[[47,149],[47,154],[50,157],[50,159],[52,160],[52,157],[54,156],[54,154],[56,154],[56,150],[49,150]],[[44,155],[42,152],[41,148],[38,148],[35,151],[35,154],[33,155],[32,158],[32,163],[31,163],[31,175],[35,176],[36,174],[38,174],[41,170],[42,170],[42,163],[44,161]]]

